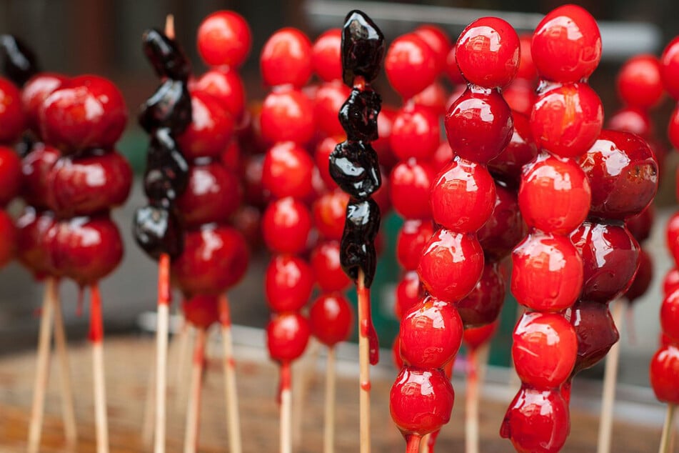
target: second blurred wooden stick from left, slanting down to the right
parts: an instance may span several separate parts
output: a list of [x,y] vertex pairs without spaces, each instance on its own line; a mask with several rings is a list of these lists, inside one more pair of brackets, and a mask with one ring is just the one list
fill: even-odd
[[56,279],[50,277],[46,282],[46,291],[54,305],[54,345],[56,359],[59,361],[59,383],[61,387],[61,415],[64,420],[64,434],[66,444],[73,447],[78,442],[76,427],[76,411],[73,399],[73,384],[71,383],[71,367],[69,365],[69,351],[64,329],[64,317],[61,316],[61,300],[59,299],[59,285]]

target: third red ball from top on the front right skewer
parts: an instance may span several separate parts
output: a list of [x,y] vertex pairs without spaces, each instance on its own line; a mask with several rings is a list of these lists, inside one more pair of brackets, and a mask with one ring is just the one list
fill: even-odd
[[518,205],[528,227],[569,234],[585,220],[592,198],[575,161],[542,153],[523,169]]

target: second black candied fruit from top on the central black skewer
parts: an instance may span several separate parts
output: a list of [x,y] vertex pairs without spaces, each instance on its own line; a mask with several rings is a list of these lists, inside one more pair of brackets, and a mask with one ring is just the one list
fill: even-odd
[[376,91],[352,89],[339,111],[340,123],[346,131],[347,139],[377,140],[377,116],[381,106],[382,98]]

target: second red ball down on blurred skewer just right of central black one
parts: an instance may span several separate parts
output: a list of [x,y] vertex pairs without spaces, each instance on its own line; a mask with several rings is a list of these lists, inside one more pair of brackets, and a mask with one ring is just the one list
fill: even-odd
[[428,107],[406,104],[396,112],[389,144],[398,159],[431,159],[440,141],[438,116]]

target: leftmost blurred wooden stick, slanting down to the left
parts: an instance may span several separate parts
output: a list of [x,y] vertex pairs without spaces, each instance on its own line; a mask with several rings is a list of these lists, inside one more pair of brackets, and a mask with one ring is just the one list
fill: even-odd
[[33,391],[33,406],[31,407],[31,422],[29,424],[29,453],[38,453],[42,434],[42,421],[45,412],[45,394],[49,378],[49,353],[52,319],[54,319],[54,304],[50,294],[54,291],[51,286],[54,279],[46,282],[42,299],[40,330],[38,334],[38,357],[36,363],[36,380]]

